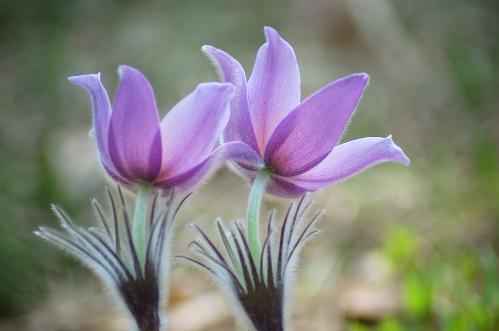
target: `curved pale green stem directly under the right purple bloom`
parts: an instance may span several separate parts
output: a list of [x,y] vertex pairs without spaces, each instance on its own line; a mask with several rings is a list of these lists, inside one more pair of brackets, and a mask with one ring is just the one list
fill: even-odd
[[260,265],[260,236],[258,231],[261,200],[270,171],[262,168],[255,177],[248,201],[248,242],[250,253],[257,266]]

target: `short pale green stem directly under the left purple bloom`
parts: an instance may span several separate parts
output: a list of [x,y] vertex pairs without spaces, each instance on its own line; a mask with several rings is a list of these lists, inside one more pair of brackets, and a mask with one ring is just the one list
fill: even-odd
[[133,214],[133,224],[132,224],[132,239],[135,246],[135,251],[137,252],[137,257],[139,259],[140,266],[144,268],[146,262],[146,238],[145,238],[145,227],[147,219],[147,197],[150,189],[149,184],[142,184],[139,187],[139,192],[137,193],[137,198],[135,200],[135,211]]

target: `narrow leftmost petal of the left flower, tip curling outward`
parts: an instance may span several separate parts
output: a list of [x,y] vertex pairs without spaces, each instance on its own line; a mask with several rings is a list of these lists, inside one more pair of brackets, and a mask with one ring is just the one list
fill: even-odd
[[105,165],[109,175],[117,175],[117,171],[111,162],[107,145],[107,134],[109,119],[111,117],[111,104],[106,90],[100,82],[100,73],[69,77],[68,80],[85,88],[92,98],[92,131],[97,140],[100,158]]

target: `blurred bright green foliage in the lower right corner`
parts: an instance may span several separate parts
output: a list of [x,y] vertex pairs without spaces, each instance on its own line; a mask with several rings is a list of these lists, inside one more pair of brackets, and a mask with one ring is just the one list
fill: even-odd
[[499,257],[491,246],[433,251],[423,258],[418,233],[399,225],[388,232],[384,253],[401,266],[402,314],[349,331],[493,331],[499,327]]

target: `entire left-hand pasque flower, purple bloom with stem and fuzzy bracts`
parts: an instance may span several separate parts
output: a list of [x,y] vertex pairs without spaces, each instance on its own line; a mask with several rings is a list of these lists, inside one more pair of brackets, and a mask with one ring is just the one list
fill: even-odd
[[[37,235],[56,243],[92,268],[114,294],[138,330],[162,330],[166,319],[167,277],[171,263],[175,195],[191,190],[228,158],[251,155],[244,142],[213,151],[229,120],[229,83],[204,83],[160,122],[153,90],[138,70],[120,66],[120,83],[111,107],[100,74],[70,77],[93,102],[93,127],[100,160],[118,183],[136,192],[133,217],[119,190],[121,208],[110,194],[112,221],[94,202],[101,226],[77,227],[58,207],[66,234],[41,227]],[[248,152],[250,150],[250,152]],[[251,161],[254,162],[254,161]],[[152,187],[169,199],[164,208],[149,203]]]

